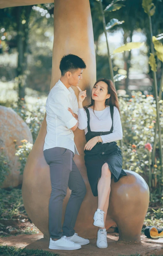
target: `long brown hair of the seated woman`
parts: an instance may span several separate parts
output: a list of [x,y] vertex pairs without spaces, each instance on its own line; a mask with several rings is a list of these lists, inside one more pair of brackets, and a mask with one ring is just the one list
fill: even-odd
[[[100,78],[95,82],[94,86],[100,81],[105,82],[107,84],[108,94],[110,94],[110,98],[106,99],[106,101],[105,101],[105,106],[106,107],[107,106],[115,106],[115,107],[117,107],[117,109],[120,113],[118,95],[116,93],[116,90],[115,90],[112,80],[106,79],[106,78]],[[89,108],[91,106],[93,106],[93,112],[94,112],[94,100],[92,99],[92,95],[91,95],[91,104],[87,105],[86,108]]]

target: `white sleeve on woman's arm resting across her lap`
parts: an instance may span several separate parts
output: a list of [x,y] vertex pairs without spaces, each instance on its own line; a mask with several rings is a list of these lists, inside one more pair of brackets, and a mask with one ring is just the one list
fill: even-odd
[[101,135],[102,143],[109,143],[121,140],[123,137],[121,118],[118,109],[114,106],[113,114],[113,132],[107,135]]

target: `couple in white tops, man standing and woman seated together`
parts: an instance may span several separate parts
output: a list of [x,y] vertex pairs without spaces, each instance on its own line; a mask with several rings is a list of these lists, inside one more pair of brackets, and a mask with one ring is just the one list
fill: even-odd
[[[109,204],[110,182],[117,182],[126,173],[122,170],[121,150],[116,140],[122,139],[122,125],[118,97],[113,82],[99,79],[92,89],[91,104],[83,108],[86,90],[74,90],[82,79],[85,62],[76,55],[63,56],[60,62],[61,78],[50,90],[46,101],[47,135],[44,157],[50,166],[51,196],[49,201],[49,249],[77,250],[89,240],[78,236],[74,226],[86,194],[83,178],[73,161],[78,150],[73,131],[85,130],[85,165],[98,208],[93,225],[99,227],[97,246],[107,248],[105,221]],[[61,225],[63,199],[71,190],[63,227]]]

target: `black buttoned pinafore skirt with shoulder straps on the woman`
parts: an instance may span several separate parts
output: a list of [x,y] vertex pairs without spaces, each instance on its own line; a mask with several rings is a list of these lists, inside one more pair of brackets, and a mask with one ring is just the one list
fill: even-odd
[[[114,106],[110,106],[110,113],[112,118],[112,127],[107,132],[92,132],[90,129],[90,114],[89,110],[85,107],[85,111],[88,118],[88,132],[85,135],[86,142],[95,136],[107,135],[113,132],[113,114]],[[87,169],[88,180],[94,196],[98,196],[97,184],[101,177],[101,169],[104,163],[108,164],[111,171],[111,178],[114,177],[114,181],[117,182],[122,176],[126,176],[126,172],[122,169],[122,155],[121,150],[117,146],[117,143],[110,142],[102,144],[97,143],[91,150],[85,150],[85,166]]]

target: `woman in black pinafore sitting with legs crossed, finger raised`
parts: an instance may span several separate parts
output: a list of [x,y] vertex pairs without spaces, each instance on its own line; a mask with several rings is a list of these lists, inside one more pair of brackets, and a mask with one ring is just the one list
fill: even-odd
[[[117,182],[123,175],[121,150],[116,140],[122,139],[118,96],[111,80],[101,78],[92,89],[91,104],[83,108],[86,91],[78,97],[78,128],[85,130],[85,166],[98,209],[94,225],[99,227],[97,246],[107,248],[105,221],[109,205],[111,178]],[[72,111],[69,109],[72,113]]]

